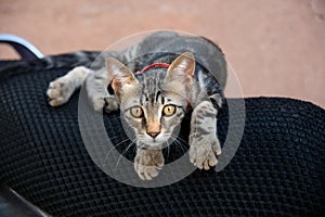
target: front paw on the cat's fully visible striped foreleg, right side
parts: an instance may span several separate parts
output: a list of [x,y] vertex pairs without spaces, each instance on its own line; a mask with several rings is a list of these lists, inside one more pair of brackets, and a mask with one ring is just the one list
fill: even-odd
[[190,144],[190,161],[199,169],[210,169],[218,163],[217,155],[221,154],[218,138],[195,139]]

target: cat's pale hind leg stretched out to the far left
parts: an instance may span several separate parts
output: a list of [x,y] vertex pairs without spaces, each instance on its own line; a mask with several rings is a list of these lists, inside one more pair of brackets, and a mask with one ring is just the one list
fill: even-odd
[[84,66],[78,66],[66,75],[50,82],[47,91],[50,105],[60,106],[66,103],[72,94],[81,87],[86,77],[91,73],[93,73],[93,71]]

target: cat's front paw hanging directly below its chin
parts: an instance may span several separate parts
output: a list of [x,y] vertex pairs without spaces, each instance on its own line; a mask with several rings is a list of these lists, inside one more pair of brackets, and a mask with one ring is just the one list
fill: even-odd
[[138,150],[134,169],[142,180],[152,180],[159,174],[164,163],[161,150]]

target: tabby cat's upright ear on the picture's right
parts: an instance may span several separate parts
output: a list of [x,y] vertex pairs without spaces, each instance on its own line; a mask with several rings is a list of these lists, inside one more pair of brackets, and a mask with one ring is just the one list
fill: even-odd
[[185,86],[192,85],[195,71],[195,60],[191,52],[185,52],[179,55],[169,66],[166,80],[178,80]]

